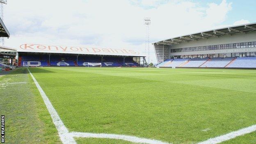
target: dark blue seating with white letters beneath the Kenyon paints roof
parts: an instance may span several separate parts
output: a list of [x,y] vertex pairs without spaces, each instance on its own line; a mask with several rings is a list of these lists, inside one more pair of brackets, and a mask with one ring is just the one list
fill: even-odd
[[[78,60],[78,62],[77,62]],[[19,55],[19,66],[95,66],[101,63],[100,56],[81,55],[51,55],[50,62],[48,55]],[[91,65],[92,64],[92,65]],[[133,57],[126,57],[124,61],[125,66],[139,66],[133,60]],[[104,57],[102,66],[123,66],[123,57]]]

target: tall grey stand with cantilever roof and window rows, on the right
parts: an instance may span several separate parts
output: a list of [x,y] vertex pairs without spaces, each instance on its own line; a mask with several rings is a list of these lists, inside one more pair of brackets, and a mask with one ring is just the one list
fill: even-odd
[[256,68],[256,23],[153,43],[158,67]]

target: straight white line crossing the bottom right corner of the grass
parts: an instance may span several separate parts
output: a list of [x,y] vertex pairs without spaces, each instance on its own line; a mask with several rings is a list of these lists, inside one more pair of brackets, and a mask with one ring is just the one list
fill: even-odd
[[256,125],[252,125],[247,128],[242,128],[240,130],[233,131],[231,133],[228,133],[226,135],[221,135],[219,137],[210,138],[206,141],[199,142],[198,144],[219,144],[219,143],[227,141],[229,139],[233,139],[235,137],[245,135],[247,133],[252,133],[254,131],[256,131]]

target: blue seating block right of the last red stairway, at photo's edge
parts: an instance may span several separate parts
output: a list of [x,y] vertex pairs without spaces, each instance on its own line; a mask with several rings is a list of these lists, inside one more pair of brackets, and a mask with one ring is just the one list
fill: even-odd
[[230,67],[230,68],[256,68],[256,57],[238,57],[228,67]]

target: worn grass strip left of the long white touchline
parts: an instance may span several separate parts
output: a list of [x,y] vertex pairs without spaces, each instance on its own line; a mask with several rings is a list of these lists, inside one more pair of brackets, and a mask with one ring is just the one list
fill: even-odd
[[[13,82],[26,82],[10,84]],[[59,144],[50,114],[27,69],[0,78],[0,113],[5,115],[5,143]]]

